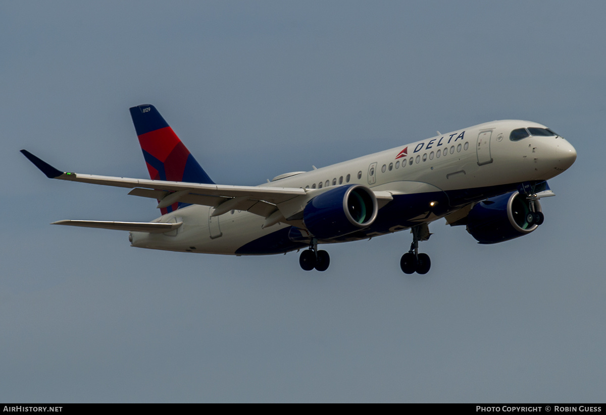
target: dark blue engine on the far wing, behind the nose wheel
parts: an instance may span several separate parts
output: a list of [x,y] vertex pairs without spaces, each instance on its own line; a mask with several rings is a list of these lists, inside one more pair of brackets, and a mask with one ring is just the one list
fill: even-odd
[[[534,202],[541,212],[541,204]],[[467,232],[481,244],[495,244],[530,234],[537,225],[528,223],[530,202],[519,192],[491,197],[473,206],[467,215]]]

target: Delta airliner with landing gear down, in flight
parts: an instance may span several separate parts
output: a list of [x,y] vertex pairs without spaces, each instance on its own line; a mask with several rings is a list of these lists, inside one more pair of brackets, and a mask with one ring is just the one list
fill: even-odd
[[21,150],[47,177],[131,189],[158,201],[150,222],[60,220],[127,230],[131,246],[178,252],[270,255],[301,250],[304,270],[330,264],[319,244],[410,229],[404,273],[425,274],[419,253],[428,224],[445,218],[481,244],[534,232],[544,221],[547,180],[573,165],[576,150],[547,126],[500,120],[447,132],[258,186],[218,185],[153,105],[130,108],[150,180],[64,172]]

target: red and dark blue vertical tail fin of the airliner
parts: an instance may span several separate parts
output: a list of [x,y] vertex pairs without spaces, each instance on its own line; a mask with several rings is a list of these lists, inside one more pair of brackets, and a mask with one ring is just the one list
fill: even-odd
[[[153,105],[130,108],[139,144],[152,180],[187,181],[189,183],[215,184],[196,162],[168,123]],[[162,214],[187,206],[175,203],[162,208]]]

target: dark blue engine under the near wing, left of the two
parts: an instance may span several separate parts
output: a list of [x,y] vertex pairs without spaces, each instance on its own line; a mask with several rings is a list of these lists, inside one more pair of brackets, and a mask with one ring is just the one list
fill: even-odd
[[351,234],[370,226],[377,217],[375,194],[362,185],[339,186],[311,199],[303,223],[318,239]]

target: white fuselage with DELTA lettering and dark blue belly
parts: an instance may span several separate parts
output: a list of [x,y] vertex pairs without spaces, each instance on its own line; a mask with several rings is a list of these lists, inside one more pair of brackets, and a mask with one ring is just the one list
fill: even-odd
[[[471,196],[466,203],[471,203],[487,197],[489,191],[486,189],[494,188],[490,196],[501,194],[504,192],[502,186],[511,185],[511,189],[515,189],[516,183],[547,180],[572,165],[576,151],[562,137],[530,136],[518,141],[510,140],[511,131],[528,127],[545,128],[538,123],[522,120],[484,123],[336,165],[278,178],[261,186],[303,188],[313,193],[331,186],[359,184],[375,192],[389,192],[394,200],[379,210],[377,221],[380,225],[353,239],[381,235],[407,229],[411,221],[430,222],[461,208],[462,203],[455,202],[456,197],[453,197],[456,192],[469,189]],[[484,191],[475,194],[473,189]],[[430,209],[415,211],[411,208],[406,197],[422,194],[444,195],[441,209],[432,213]],[[473,195],[476,195],[475,199]],[[405,199],[408,204],[404,203]],[[400,201],[402,208],[395,209],[395,204]],[[182,226],[168,234],[131,232],[132,246],[247,255],[257,251],[241,250],[241,247],[255,244],[255,241],[264,244],[266,240],[269,241],[264,237],[270,238],[272,243],[284,239],[285,235],[278,231],[290,227],[278,223],[262,228],[265,219],[259,215],[230,211],[211,217],[212,211],[213,208],[208,206],[190,205],[163,215],[155,222],[182,222]],[[271,237],[271,234],[275,237]],[[277,243],[271,252],[259,253],[279,253],[301,247],[284,244],[281,249],[280,246]]]

